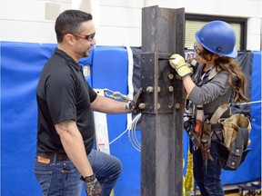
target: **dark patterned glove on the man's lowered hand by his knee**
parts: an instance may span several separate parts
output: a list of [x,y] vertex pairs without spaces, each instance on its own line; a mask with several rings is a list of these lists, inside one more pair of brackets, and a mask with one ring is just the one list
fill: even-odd
[[86,182],[86,194],[88,196],[100,195],[102,188],[99,182],[97,181],[95,174],[93,174],[92,176],[88,176],[86,178],[83,178],[83,176],[81,176],[81,180]]

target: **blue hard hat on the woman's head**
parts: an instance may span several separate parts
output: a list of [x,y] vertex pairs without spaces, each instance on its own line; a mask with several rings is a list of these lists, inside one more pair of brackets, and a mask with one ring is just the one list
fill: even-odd
[[227,56],[230,58],[237,58],[236,34],[231,27],[224,21],[212,21],[204,25],[195,34],[196,40],[208,51]]

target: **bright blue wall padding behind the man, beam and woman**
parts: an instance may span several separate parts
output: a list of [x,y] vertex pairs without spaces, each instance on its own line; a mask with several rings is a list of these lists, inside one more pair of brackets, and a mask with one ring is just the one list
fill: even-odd
[[[41,70],[55,46],[56,44],[1,42],[2,196],[41,195],[34,174],[37,126],[35,88]],[[128,93],[126,47],[96,46],[80,64],[90,64],[91,77],[88,82],[93,88]],[[251,98],[252,101],[258,101],[261,100],[260,51],[253,52],[252,69]],[[237,171],[223,171],[224,185],[261,178],[261,103],[251,105],[251,117],[252,151]],[[126,114],[107,115],[107,123],[109,141],[112,141],[126,130]],[[115,187],[116,196],[139,196],[140,152],[129,143],[127,134],[110,145],[110,152],[123,164],[123,173]]]

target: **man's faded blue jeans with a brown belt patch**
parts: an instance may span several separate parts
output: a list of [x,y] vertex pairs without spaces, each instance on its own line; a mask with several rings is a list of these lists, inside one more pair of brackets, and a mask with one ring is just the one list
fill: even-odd
[[[92,150],[88,154],[96,179],[102,187],[101,196],[109,196],[122,171],[121,162],[114,156]],[[37,161],[35,156],[35,176],[43,196],[80,196],[84,181],[71,161],[51,160],[45,164]]]

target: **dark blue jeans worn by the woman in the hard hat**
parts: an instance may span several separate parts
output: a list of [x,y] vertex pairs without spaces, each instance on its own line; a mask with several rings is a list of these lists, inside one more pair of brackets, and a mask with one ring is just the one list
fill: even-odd
[[202,196],[224,196],[220,180],[221,168],[218,162],[216,140],[211,142],[210,153],[214,161],[208,160],[206,168],[201,150],[198,148],[193,151],[194,179]]

